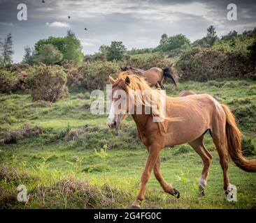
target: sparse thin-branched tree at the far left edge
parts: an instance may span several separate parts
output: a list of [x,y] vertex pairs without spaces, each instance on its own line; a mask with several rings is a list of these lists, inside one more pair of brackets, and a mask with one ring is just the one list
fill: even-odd
[[6,38],[0,40],[0,57],[3,64],[12,63],[13,38],[12,34],[8,33]]

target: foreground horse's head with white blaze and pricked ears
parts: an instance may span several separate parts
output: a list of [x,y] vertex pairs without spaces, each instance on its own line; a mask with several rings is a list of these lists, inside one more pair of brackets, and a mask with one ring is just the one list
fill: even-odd
[[129,85],[129,77],[125,79],[113,79],[108,77],[109,82],[112,84],[112,92],[110,96],[111,110],[108,115],[107,124],[110,128],[119,128],[122,120],[129,112],[129,92],[127,86]]

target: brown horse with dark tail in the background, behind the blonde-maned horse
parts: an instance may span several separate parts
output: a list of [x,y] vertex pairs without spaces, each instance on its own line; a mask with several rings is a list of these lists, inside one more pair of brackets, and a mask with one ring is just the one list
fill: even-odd
[[164,79],[167,77],[171,79],[173,84],[177,86],[176,79],[173,77],[171,73],[170,68],[150,68],[148,70],[141,70],[138,68],[133,68],[133,67],[121,67],[122,71],[131,71],[134,75],[138,75],[140,77],[145,77],[147,80],[148,84],[150,86],[155,86],[156,88],[161,88],[164,89]]

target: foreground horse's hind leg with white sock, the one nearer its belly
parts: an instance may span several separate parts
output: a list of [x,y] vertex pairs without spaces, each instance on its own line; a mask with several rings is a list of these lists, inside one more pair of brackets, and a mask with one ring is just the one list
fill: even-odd
[[204,134],[201,135],[201,137],[198,139],[191,141],[189,144],[192,146],[192,148],[194,148],[194,151],[196,151],[201,156],[201,159],[204,162],[204,168],[199,178],[199,191],[202,195],[204,195],[204,189],[207,185],[208,170],[211,165],[212,156],[204,146]]

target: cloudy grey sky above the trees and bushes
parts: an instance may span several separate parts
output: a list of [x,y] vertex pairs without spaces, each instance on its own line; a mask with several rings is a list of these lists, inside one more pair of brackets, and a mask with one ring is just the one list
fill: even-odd
[[[41,38],[65,36],[68,29],[80,39],[83,52],[93,54],[113,40],[122,41],[128,49],[156,47],[162,33],[183,33],[194,41],[205,36],[211,24],[218,36],[256,27],[254,0],[44,1],[0,0],[0,38],[13,34],[15,62],[22,61],[25,45],[33,47]],[[19,3],[27,5],[27,21],[17,20]],[[227,20],[229,3],[237,6],[237,21]]]

